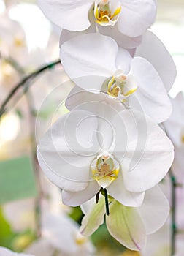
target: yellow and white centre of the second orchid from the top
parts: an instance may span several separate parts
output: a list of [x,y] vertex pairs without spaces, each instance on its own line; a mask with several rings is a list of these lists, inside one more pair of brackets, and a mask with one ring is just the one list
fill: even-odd
[[120,97],[121,100],[133,94],[137,90],[137,84],[131,75],[113,75],[107,86],[107,93],[112,97]]

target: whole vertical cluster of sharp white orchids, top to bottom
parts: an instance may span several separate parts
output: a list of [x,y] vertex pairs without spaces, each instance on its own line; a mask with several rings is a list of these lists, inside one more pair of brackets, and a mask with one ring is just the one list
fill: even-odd
[[169,203],[158,183],[172,165],[158,125],[172,112],[172,57],[149,29],[156,0],[39,0],[61,31],[61,63],[74,82],[37,158],[68,206],[85,214],[81,233],[104,222],[121,244],[142,250]]

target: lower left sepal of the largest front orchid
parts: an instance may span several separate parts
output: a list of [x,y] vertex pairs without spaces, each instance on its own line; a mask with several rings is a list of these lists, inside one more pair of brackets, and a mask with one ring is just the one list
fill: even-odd
[[90,200],[97,192],[99,192],[99,185],[96,181],[90,181],[88,187],[79,192],[62,191],[62,200],[66,206],[80,206],[87,200]]

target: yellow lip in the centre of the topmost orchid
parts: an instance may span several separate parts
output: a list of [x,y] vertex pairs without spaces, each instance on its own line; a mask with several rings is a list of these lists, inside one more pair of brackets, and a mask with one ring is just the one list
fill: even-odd
[[97,4],[94,8],[94,16],[96,18],[96,23],[103,26],[106,25],[113,25],[118,20],[118,15],[121,11],[121,6],[118,7],[113,14],[111,14],[110,11],[110,4],[107,1],[107,4],[104,4],[103,6],[100,6],[100,4]]

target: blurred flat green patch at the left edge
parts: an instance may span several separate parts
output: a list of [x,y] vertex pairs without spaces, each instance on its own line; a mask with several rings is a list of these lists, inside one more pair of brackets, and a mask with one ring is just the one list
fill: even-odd
[[0,162],[0,204],[35,196],[37,186],[29,157]]

